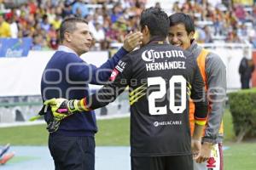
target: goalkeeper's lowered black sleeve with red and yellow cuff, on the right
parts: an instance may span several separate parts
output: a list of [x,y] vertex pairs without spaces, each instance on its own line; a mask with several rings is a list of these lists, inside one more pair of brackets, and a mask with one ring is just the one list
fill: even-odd
[[207,96],[205,91],[205,84],[201,77],[200,69],[195,61],[195,74],[193,77],[191,87],[191,99],[195,103],[195,123],[199,125],[205,125],[207,121]]

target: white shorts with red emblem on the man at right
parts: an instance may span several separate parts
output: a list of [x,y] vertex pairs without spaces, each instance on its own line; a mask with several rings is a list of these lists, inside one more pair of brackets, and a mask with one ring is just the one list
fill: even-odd
[[202,163],[194,161],[194,170],[223,170],[223,150],[222,144],[213,144],[211,157]]

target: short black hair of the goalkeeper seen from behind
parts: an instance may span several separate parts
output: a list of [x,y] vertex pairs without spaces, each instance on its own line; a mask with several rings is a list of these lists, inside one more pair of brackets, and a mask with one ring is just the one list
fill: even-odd
[[146,8],[141,14],[140,26],[148,26],[151,36],[166,38],[169,31],[168,15],[161,8]]

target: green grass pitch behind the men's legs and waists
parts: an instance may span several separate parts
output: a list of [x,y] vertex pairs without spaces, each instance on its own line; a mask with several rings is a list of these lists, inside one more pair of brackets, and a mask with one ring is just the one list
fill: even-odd
[[[96,145],[129,146],[130,118],[99,120]],[[229,111],[224,113],[224,169],[254,170],[256,167],[256,142],[236,144]],[[0,144],[47,145],[45,125],[0,128]]]

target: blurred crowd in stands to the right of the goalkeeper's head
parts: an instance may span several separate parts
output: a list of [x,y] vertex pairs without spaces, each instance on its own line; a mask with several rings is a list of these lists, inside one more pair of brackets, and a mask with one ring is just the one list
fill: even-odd
[[256,4],[207,3],[207,0],[173,4],[173,12],[183,12],[194,17],[195,38],[198,42],[251,42],[256,48]]

